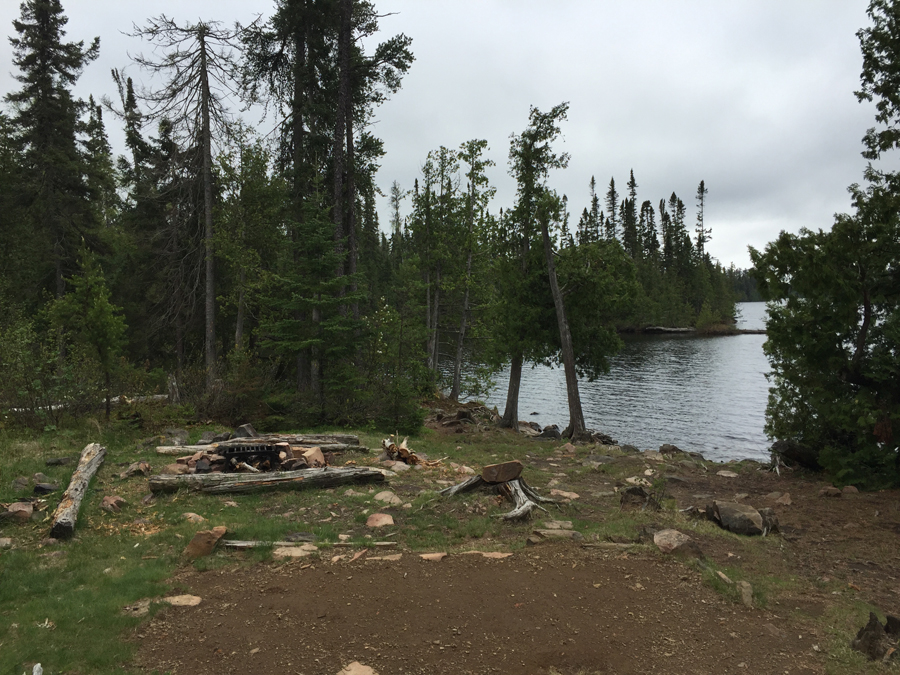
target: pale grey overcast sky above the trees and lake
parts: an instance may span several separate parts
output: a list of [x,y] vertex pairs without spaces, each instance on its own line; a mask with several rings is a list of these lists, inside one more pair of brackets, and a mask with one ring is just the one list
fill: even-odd
[[[100,58],[77,92],[114,96],[111,68],[142,47],[122,35],[132,22],[165,13],[247,23],[267,18],[274,0],[62,0],[69,40],[100,36]],[[496,167],[494,210],[508,207],[509,136],[529,106],[570,102],[559,149],[571,154],[551,185],[575,216],[596,176],[625,191],[634,170],[638,201],[674,191],[693,224],[700,180],[709,190],[708,244],[722,263],[749,266],[780,230],[827,228],[850,208],[848,185],[870,105],[856,101],[861,57],[856,31],[867,0],[376,0],[384,38],[405,33],[416,60],[402,90],[378,111],[374,132],[387,155],[377,176],[388,193],[412,187],[429,150],[483,138]],[[0,1],[13,34],[15,0]],[[371,51],[374,42],[370,46]],[[0,93],[17,88],[11,47],[0,44]],[[141,73],[128,71],[136,80]],[[107,120],[114,146],[121,131]],[[262,126],[271,128],[272,120]],[[382,226],[387,200],[382,200]],[[408,200],[405,204],[408,210]],[[692,227],[693,229],[693,227]]]

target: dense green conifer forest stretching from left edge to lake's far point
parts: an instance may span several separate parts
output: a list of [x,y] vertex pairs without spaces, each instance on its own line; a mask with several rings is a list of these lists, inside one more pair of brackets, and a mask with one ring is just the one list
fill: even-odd
[[373,115],[414,57],[402,34],[363,50],[366,0],[276,0],[235,28],[148,19],[134,59],[154,87],[114,71],[118,95],[87,101],[72,89],[99,40],[66,22],[59,0],[22,3],[0,112],[0,401],[23,423],[161,391],[204,418],[415,428],[436,387],[477,395],[533,362],[596,377],[621,331],[728,324],[759,297],[707,251],[703,180],[693,217],[674,192],[639,197],[633,171],[558,195],[565,103],[512,136],[514,203],[495,204],[473,139],[421,158],[379,223]]

